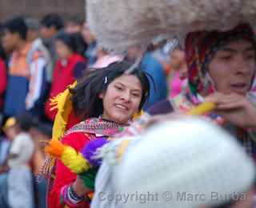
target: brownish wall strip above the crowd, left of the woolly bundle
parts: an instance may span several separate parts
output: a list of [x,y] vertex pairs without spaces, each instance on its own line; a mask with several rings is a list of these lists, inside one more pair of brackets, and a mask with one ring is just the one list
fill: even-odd
[[85,0],[0,0],[0,22],[18,15],[42,18],[48,13],[85,17]]

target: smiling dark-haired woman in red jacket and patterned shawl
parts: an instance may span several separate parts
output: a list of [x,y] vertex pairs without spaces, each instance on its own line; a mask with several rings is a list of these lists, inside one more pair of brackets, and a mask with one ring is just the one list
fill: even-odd
[[[100,139],[105,143],[103,140],[130,124],[133,116],[142,109],[150,89],[149,80],[141,69],[126,73],[131,66],[121,61],[88,71],[76,87],[70,89],[74,114],[83,121],[66,132],[63,144],[80,152],[90,140]],[[89,155],[90,151],[87,152]],[[98,166],[93,163],[89,166],[86,179],[82,179],[57,161],[48,198],[50,208],[89,207],[88,194],[94,190],[94,176],[98,171]]]

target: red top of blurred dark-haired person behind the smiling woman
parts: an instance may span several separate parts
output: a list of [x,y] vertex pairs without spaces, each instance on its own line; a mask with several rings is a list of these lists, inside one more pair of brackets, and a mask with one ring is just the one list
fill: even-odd
[[74,53],[70,58],[63,63],[62,60],[58,60],[53,75],[53,81],[50,88],[50,97],[46,101],[46,116],[50,120],[54,120],[57,111],[50,111],[50,98],[57,96],[58,93],[63,92],[66,87],[74,82],[74,80],[81,76],[81,70],[85,69],[86,60],[78,53]]

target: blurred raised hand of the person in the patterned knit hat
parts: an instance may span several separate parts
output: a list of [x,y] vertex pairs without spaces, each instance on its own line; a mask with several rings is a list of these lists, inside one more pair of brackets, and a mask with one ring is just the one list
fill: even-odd
[[256,108],[246,96],[216,92],[206,97],[206,101],[214,102],[217,105],[214,112],[223,116],[230,124],[239,128],[256,128]]

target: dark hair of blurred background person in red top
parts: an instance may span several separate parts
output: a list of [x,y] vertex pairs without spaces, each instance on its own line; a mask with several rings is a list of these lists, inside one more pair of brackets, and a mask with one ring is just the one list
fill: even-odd
[[67,45],[74,53],[83,54],[86,51],[87,45],[82,39],[80,33],[58,33],[55,40],[62,41]]

